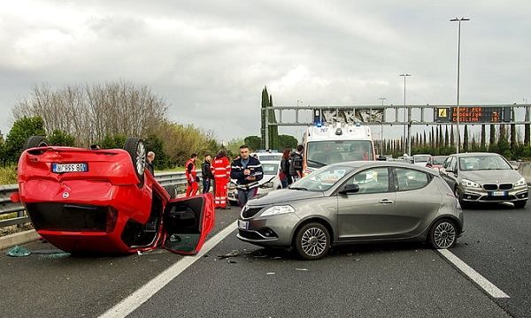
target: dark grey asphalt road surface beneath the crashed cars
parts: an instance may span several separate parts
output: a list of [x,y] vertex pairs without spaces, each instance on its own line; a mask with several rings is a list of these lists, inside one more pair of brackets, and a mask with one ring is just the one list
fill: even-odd
[[[238,210],[217,212],[216,232]],[[299,261],[235,239],[235,231],[165,284],[131,317],[530,317],[531,208],[466,210],[451,249],[509,299],[494,299],[422,244],[345,246]],[[213,234],[211,235],[211,237]],[[27,248],[48,253],[53,246]],[[183,258],[165,250],[122,257],[0,255],[0,316],[96,317]],[[229,258],[218,256],[235,254]],[[139,307],[137,307],[140,305]]]

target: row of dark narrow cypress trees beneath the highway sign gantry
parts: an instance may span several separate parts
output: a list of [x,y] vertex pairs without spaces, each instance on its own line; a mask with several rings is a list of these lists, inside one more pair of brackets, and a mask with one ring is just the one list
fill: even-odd
[[[516,125],[489,125],[489,140],[487,140],[487,126],[481,125],[481,133],[472,136],[468,132],[468,125],[465,125],[462,136],[457,133],[453,125],[432,126],[431,130],[412,135],[412,155],[451,155],[456,152],[456,145],[459,144],[459,152],[488,151],[504,155],[508,160],[531,159],[531,146],[526,138],[527,134],[522,140]],[[393,157],[404,155],[404,146],[407,143],[404,137],[380,142],[382,142],[380,148],[383,155],[393,155]]]

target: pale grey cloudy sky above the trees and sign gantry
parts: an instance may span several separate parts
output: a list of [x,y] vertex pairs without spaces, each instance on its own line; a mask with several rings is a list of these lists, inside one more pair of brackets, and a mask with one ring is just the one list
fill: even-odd
[[[528,1],[9,1],[0,7],[0,130],[35,84],[126,79],[219,140],[276,106],[531,102]],[[298,129],[281,133],[296,133]]]

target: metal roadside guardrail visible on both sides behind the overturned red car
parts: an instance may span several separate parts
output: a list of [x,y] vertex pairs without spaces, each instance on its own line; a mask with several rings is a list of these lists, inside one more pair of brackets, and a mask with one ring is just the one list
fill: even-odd
[[[201,170],[197,171],[197,176],[201,177]],[[173,198],[186,191],[187,182],[184,172],[156,173],[155,178]],[[30,222],[24,206],[11,201],[11,194],[18,190],[19,185],[0,186],[0,216],[17,213],[15,217],[0,220],[0,228]]]

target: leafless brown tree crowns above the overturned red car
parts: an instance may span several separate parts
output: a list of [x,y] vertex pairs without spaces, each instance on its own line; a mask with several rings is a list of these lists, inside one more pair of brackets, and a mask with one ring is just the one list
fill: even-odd
[[108,134],[155,133],[166,110],[165,100],[149,87],[119,81],[57,90],[35,86],[12,113],[15,119],[40,116],[47,133],[60,129],[73,135],[78,146],[86,146]]

